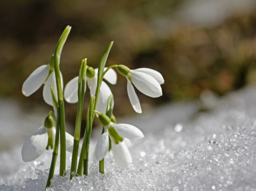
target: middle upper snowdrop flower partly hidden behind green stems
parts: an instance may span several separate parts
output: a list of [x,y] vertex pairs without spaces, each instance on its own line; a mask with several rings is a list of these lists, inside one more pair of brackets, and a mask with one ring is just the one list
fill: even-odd
[[[104,70],[106,69],[107,67],[104,68]],[[86,77],[88,87],[90,88],[90,94],[95,95],[97,88],[98,68],[94,69],[93,67],[88,66]],[[116,71],[110,68],[104,75],[103,79],[108,81],[110,84],[115,85],[117,83]],[[84,88],[84,91],[86,91],[86,87]],[[108,85],[102,81],[96,110],[105,113],[108,97],[111,94],[112,92]],[[68,82],[64,90],[64,98],[68,103],[76,103],[78,101],[78,77],[75,77]]]

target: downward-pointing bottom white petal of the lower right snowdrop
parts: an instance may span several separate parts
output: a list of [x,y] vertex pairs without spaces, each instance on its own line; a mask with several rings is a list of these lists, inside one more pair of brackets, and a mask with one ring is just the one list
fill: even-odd
[[111,151],[118,167],[126,168],[132,163],[130,151],[124,142],[118,144],[112,142]]

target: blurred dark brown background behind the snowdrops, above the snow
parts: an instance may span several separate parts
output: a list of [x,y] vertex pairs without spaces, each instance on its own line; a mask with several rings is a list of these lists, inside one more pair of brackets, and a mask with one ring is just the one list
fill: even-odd
[[[48,64],[67,25],[72,30],[61,57],[64,85],[78,75],[82,59],[97,67],[114,41],[106,66],[148,67],[163,75],[162,97],[136,90],[144,112],[196,99],[206,90],[224,95],[256,82],[255,8],[250,0],[2,0],[0,96],[17,99],[24,111],[47,105],[43,86],[30,97],[22,95],[21,87],[32,71]],[[126,83],[118,74],[117,85],[109,85],[116,116],[135,113]],[[88,102],[89,91],[84,111]],[[74,124],[77,104],[66,103],[65,109],[67,121]]]

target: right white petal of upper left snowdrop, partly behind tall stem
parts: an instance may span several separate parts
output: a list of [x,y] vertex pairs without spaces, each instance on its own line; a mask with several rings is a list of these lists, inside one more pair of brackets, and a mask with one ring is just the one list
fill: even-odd
[[[62,90],[63,90],[63,77],[61,73],[61,83],[62,83]],[[56,99],[58,100],[58,91],[57,91],[57,85],[56,85],[56,79],[55,79],[55,72],[51,72],[49,75],[49,78],[45,82],[44,89],[43,89],[43,98],[44,101],[52,106],[52,97],[51,97],[51,89],[50,86],[53,88],[53,92],[56,96]]]

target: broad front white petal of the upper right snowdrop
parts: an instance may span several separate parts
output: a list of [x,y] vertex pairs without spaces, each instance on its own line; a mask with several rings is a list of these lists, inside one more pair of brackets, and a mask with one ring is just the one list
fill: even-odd
[[145,95],[150,97],[159,97],[162,95],[160,84],[151,75],[131,70],[129,76],[134,86]]

